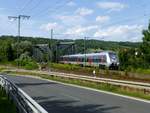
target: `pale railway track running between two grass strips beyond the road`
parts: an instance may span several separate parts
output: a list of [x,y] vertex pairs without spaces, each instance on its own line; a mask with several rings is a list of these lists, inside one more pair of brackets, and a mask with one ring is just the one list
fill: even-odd
[[107,83],[117,86],[124,86],[124,87],[131,87],[136,89],[142,89],[145,91],[150,92],[150,83],[144,82],[134,82],[134,81],[125,81],[125,80],[116,80],[116,79],[108,79],[108,78],[100,78],[95,76],[85,76],[85,75],[76,75],[76,74],[69,74],[69,73],[62,73],[62,72],[48,72],[48,71],[28,71],[24,69],[16,69],[16,70],[5,70],[5,71],[12,71],[12,72],[31,72],[35,74],[46,74],[46,75],[53,75],[58,77],[70,78],[70,79],[79,79],[97,83]]

